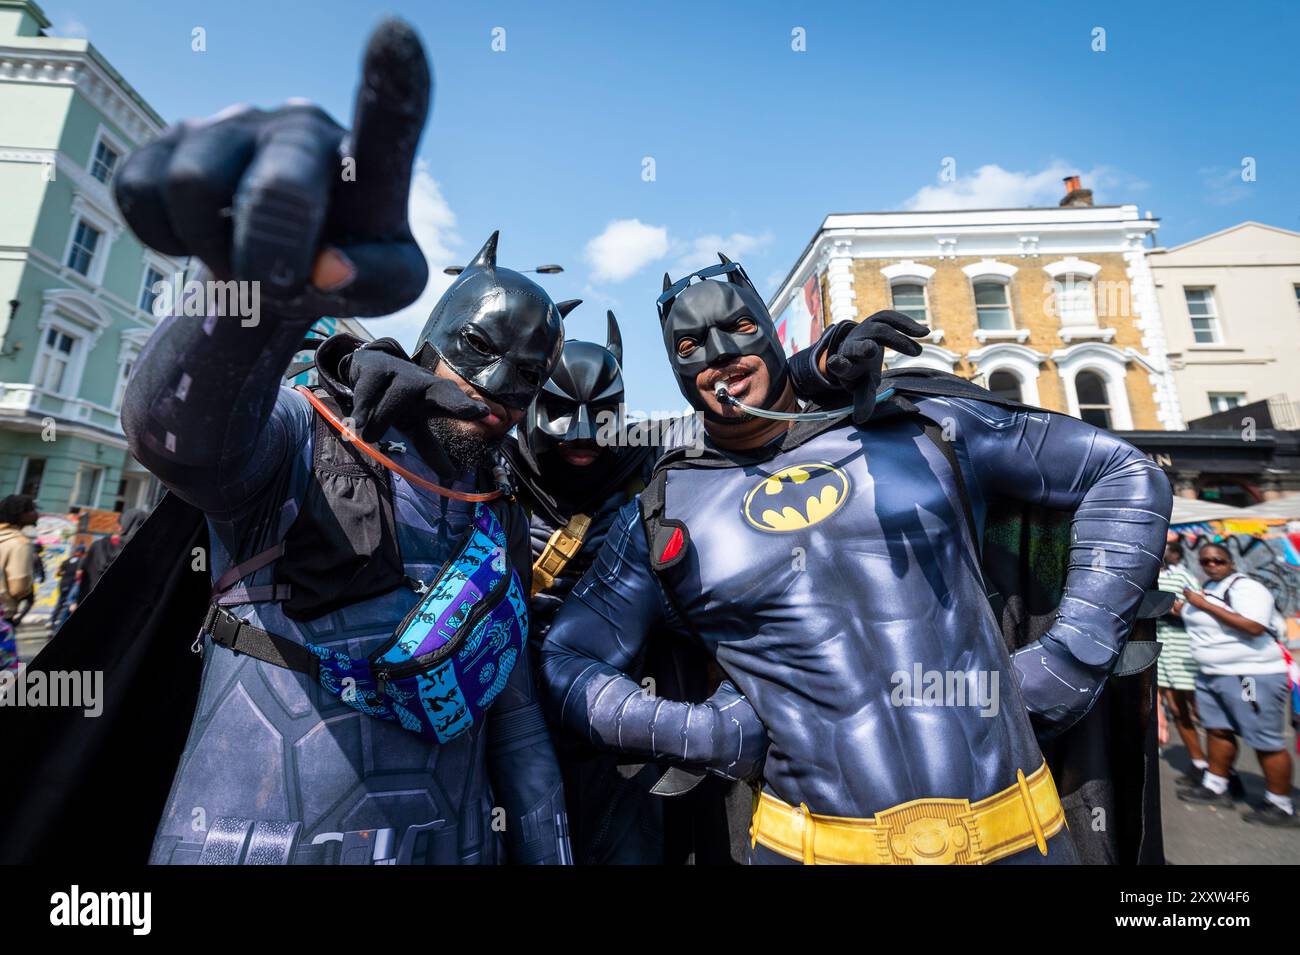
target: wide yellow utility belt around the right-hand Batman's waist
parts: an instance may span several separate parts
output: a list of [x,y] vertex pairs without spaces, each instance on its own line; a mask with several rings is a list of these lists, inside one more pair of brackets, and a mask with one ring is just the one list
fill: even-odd
[[1048,764],[1001,793],[968,799],[913,799],[872,819],[819,816],[762,793],[754,804],[757,842],[805,865],[987,865],[1046,841],[1065,826]]

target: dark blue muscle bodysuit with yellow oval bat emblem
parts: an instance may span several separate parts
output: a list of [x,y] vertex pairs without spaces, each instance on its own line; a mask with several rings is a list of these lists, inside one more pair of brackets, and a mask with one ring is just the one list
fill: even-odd
[[[916,407],[953,439],[980,529],[993,496],[1074,509],[1065,596],[1040,641],[1009,656],[953,473],[915,417],[845,424],[789,451],[783,439],[758,465],[668,470],[663,516],[689,544],[662,579],[638,507],[623,509],[543,648],[559,719],[597,745],[724,776],[766,733],[763,787],[829,816],[975,802],[1037,769],[1037,734],[1093,704],[1154,581],[1169,482],[1063,414]],[[697,633],[744,695],[677,703],[625,677],[664,628]],[[1067,841],[1049,848],[1011,860],[1074,859]]]

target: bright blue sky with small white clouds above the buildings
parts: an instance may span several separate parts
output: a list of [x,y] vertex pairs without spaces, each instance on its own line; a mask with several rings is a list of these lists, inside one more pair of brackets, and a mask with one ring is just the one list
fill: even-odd
[[[547,290],[586,301],[569,337],[603,340],[614,308],[645,411],[682,405],[663,272],[722,248],[770,294],[829,212],[1054,205],[1079,172],[1098,204],[1160,217],[1165,246],[1244,220],[1300,230],[1296,3],[42,5],[168,121],[304,96],[347,122],[367,31],[404,16],[437,83],[412,199],[436,278],[493,229],[502,264],[560,262]],[[410,344],[439,287],[370,327]]]

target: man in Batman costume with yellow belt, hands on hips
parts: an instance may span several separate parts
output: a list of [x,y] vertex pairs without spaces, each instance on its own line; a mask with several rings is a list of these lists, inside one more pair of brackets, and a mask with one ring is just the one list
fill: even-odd
[[[737,403],[798,405],[744,270],[689,275],[659,308],[707,448],[659,461],[556,616],[552,719],[753,781],[751,863],[1158,860],[1154,654],[1127,641],[1160,609],[1143,604],[1171,505],[1162,472],[952,376],[881,378],[881,344],[915,344],[852,324],[814,366],[854,392],[852,414],[755,417]],[[1063,522],[1063,589],[1017,585],[1020,534]],[[725,672],[706,702],[646,698],[627,676],[659,630]]]

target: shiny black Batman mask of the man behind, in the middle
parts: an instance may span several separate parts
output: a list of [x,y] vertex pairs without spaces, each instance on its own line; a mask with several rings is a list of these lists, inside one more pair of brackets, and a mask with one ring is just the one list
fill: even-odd
[[608,414],[618,420],[623,404],[623,337],[614,312],[606,312],[606,321],[604,347],[566,342],[560,364],[529,405],[524,439],[533,455],[562,440],[595,440],[602,426],[607,430]]

